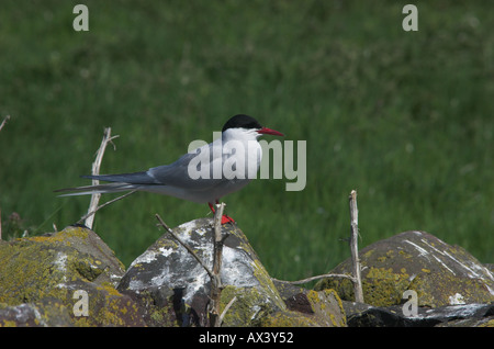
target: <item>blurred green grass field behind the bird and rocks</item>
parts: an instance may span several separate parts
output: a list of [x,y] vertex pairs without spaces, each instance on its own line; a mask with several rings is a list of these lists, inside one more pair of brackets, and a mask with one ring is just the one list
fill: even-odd
[[[89,32],[72,30],[76,3]],[[86,213],[89,196],[53,190],[89,183],[79,176],[105,126],[120,138],[101,172],[130,172],[246,113],[307,146],[303,191],[256,180],[224,198],[273,277],[349,256],[352,189],[360,247],[420,229],[494,262],[494,5],[416,1],[419,30],[404,32],[405,3],[2,1],[3,238]],[[100,211],[94,230],[128,266],[162,234],[155,213],[176,226],[209,209],[137,193]]]

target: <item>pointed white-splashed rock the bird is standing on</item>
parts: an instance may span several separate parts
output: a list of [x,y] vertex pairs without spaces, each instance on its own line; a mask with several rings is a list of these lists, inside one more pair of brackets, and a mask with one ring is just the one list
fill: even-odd
[[[213,263],[211,218],[182,224],[173,232],[209,268]],[[244,233],[224,225],[222,292],[224,307],[234,296],[224,326],[252,326],[266,314],[287,307]],[[210,277],[204,268],[168,233],[135,259],[117,290],[141,302],[151,326],[206,326]],[[160,304],[157,311],[154,304]]]

